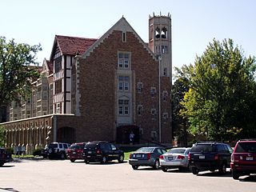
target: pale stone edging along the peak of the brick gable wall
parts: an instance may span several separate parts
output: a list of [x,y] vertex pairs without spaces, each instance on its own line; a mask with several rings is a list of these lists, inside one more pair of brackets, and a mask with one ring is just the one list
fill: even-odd
[[84,54],[82,54],[82,58],[86,58],[87,56],[90,55],[92,51],[101,43],[105,38],[107,38],[114,30],[121,30],[121,31],[126,31],[126,32],[132,32],[136,38],[138,38],[138,41],[142,43],[143,47],[149,52],[149,54],[152,55],[152,57],[157,60],[157,57],[155,54],[150,50],[148,44],[146,42],[143,42],[142,38],[139,37],[139,35],[136,33],[136,31],[130,26],[129,22],[126,21],[126,18],[122,17],[110,28],[110,30],[106,31],[106,34],[103,34],[101,38],[97,40],[92,46],[89,47],[85,51]]

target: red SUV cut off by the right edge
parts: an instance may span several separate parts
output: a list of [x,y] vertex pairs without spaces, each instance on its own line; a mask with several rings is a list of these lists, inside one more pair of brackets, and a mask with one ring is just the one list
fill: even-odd
[[256,174],[256,139],[240,140],[231,154],[231,173],[234,179]]

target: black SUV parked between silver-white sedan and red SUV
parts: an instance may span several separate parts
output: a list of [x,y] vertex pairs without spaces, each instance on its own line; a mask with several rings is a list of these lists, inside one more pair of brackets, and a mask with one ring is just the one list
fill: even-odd
[[223,142],[199,142],[192,146],[189,154],[189,166],[193,174],[204,170],[218,170],[226,174],[230,167],[232,148]]

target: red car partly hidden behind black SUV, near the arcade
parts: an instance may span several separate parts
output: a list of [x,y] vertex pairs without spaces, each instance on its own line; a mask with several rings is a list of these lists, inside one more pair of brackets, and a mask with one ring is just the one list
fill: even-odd
[[70,162],[74,162],[77,159],[84,159],[82,158],[82,151],[86,142],[78,142],[73,143],[66,151],[67,158],[70,159]]

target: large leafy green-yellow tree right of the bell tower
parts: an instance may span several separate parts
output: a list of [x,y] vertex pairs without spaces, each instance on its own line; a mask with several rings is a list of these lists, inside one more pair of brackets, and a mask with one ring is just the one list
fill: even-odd
[[256,136],[255,67],[255,58],[245,58],[231,39],[214,39],[194,66],[184,67],[190,90],[182,115],[192,134],[222,141]]

